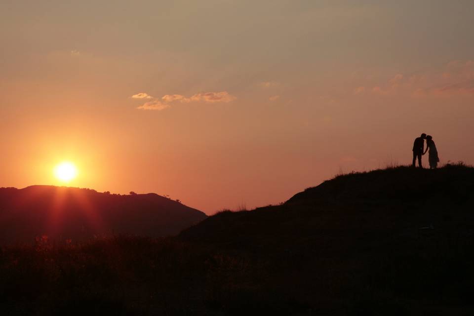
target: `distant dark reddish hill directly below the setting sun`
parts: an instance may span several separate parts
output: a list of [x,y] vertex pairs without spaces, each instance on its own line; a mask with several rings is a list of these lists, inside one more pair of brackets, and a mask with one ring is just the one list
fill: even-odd
[[55,186],[0,188],[0,244],[94,235],[178,234],[207,216],[157,194],[115,195]]

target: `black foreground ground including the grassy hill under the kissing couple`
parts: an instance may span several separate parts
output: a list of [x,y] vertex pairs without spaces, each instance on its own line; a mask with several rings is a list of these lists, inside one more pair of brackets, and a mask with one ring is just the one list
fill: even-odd
[[474,168],[348,174],[177,237],[0,250],[3,315],[473,315]]

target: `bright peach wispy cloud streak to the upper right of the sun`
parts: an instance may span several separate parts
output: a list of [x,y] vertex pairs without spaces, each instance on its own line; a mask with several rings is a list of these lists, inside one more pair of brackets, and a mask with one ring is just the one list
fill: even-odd
[[176,102],[190,103],[190,102],[204,102],[204,103],[228,103],[237,99],[235,96],[229,94],[227,91],[221,92],[203,92],[186,97],[181,94],[165,94],[161,98],[155,98],[145,92],[140,92],[132,95],[133,99],[151,99],[151,101],[139,106],[140,110],[164,110],[169,108]]

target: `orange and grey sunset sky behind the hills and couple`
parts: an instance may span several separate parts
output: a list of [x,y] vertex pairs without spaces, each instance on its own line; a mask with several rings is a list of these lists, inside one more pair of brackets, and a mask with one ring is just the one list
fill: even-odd
[[[474,164],[474,1],[0,1],[0,187],[213,214],[340,172]],[[424,156],[425,165],[428,158]]]

